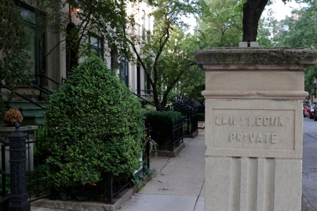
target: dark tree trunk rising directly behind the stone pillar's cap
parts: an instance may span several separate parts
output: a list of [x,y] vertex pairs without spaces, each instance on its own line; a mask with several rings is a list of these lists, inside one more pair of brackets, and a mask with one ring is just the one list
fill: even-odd
[[242,41],[256,41],[259,20],[269,0],[248,0],[243,5],[243,37]]

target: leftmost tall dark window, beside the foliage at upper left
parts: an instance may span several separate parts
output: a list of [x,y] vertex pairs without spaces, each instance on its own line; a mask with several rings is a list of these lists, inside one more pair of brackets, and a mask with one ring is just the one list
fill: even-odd
[[36,23],[38,17],[34,10],[20,5],[20,14],[26,21],[25,30],[27,39],[29,41],[26,50],[30,56],[30,62],[33,64],[32,73],[37,75],[40,73],[40,71],[44,70],[44,58],[40,52],[44,52],[45,36],[44,34],[40,35],[40,33],[36,33]]

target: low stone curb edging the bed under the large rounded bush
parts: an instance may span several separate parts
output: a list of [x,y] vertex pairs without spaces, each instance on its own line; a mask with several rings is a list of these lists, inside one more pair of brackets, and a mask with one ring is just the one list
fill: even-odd
[[[143,187],[148,181],[152,179],[151,175],[147,175],[142,181],[139,187]],[[126,188],[114,197],[114,203],[107,204],[105,202],[96,201],[62,201],[62,200],[50,200],[40,199],[31,203],[31,211],[53,211],[53,210],[67,210],[67,211],[116,211],[121,208],[121,205],[129,200],[133,194],[138,193],[141,189],[137,184],[133,187]]]

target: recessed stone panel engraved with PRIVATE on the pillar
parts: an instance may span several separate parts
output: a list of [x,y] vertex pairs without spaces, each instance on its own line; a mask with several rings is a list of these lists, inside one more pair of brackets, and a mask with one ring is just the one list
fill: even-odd
[[295,150],[295,110],[213,109],[213,148]]

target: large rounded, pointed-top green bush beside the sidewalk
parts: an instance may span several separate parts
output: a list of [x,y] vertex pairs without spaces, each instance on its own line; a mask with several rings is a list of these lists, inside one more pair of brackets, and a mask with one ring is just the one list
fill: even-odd
[[50,97],[46,120],[55,187],[94,184],[105,172],[130,176],[140,168],[141,104],[100,58],[74,69]]

